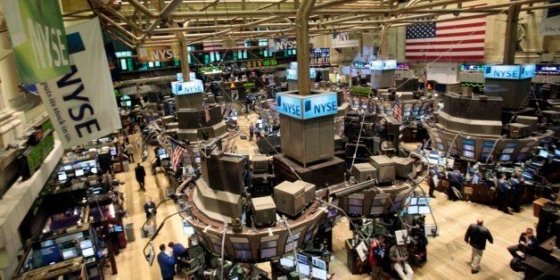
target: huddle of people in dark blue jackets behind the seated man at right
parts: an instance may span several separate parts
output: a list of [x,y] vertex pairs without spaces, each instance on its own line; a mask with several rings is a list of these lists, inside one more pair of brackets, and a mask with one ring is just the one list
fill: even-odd
[[498,210],[512,214],[509,210],[511,207],[515,212],[519,212],[521,210],[524,185],[525,179],[520,171],[515,172],[509,179],[503,173],[498,178],[498,185],[496,186]]

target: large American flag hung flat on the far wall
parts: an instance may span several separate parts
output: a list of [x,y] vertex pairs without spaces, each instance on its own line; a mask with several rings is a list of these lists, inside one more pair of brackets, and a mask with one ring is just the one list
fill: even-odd
[[410,61],[484,61],[486,17],[407,27],[405,58]]

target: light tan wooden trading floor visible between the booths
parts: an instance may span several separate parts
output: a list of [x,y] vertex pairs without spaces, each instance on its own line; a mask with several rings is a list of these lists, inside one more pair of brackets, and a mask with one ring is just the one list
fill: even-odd
[[[254,118],[252,118],[254,120]],[[136,142],[136,136],[132,136]],[[247,141],[235,140],[234,145],[238,146],[238,151],[250,151],[251,144]],[[149,149],[152,150],[152,149]],[[152,151],[150,151],[152,152]],[[150,154],[152,159],[153,154]],[[136,159],[139,152],[136,151]],[[126,249],[121,250],[116,257],[119,274],[111,276],[111,269],[105,269],[108,279],[161,279],[160,268],[157,260],[152,267],[148,265],[143,255],[146,238],[140,236],[140,226],[144,223],[145,215],[143,205],[147,196],[152,196],[154,201],[161,202],[165,199],[165,190],[169,185],[168,180],[163,174],[152,176],[150,165],[146,161],[143,163],[146,173],[146,192],[138,191],[138,185],[134,177],[134,167],[131,164],[128,172],[116,175],[125,185],[121,189],[126,195],[126,209],[128,218],[125,223],[134,223],[136,241],[129,242]],[[537,218],[532,217],[531,206],[527,205],[525,210],[515,215],[507,215],[485,205],[471,202],[451,202],[447,200],[445,194],[436,192],[436,199],[432,199],[432,210],[438,226],[440,226],[440,236],[429,238],[428,261],[422,268],[415,268],[415,279],[521,279],[523,275],[515,273],[508,266],[511,256],[506,247],[517,243],[517,238],[526,227],[533,227]],[[176,211],[173,202],[166,202],[158,209],[158,223]],[[476,218],[484,218],[484,226],[490,229],[494,236],[494,243],[489,244],[484,251],[481,271],[477,275],[471,275],[470,256],[471,247],[464,240],[466,227],[474,223]],[[427,218],[426,222],[431,223],[432,219]],[[343,241],[351,237],[348,220],[341,218],[334,227],[334,257],[330,265],[330,273],[334,273],[334,279],[366,279],[366,275],[352,276],[345,265],[346,251],[343,248]],[[161,243],[186,244],[186,236],[183,234],[181,221],[178,216],[169,218],[162,228],[160,235],[154,240],[154,249],[158,250]]]

